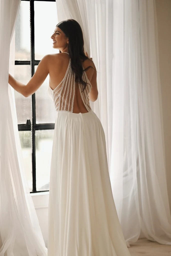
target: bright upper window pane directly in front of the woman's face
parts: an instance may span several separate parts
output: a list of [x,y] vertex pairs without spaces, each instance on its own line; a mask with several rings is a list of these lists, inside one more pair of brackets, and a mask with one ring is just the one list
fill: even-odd
[[35,1],[35,59],[41,60],[46,54],[58,53],[52,46],[51,35],[57,25],[56,2]]

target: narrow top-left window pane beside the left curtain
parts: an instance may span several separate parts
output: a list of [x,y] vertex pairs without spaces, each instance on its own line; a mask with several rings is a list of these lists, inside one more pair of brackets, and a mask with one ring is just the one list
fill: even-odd
[[15,26],[15,60],[30,60],[30,2],[21,1]]

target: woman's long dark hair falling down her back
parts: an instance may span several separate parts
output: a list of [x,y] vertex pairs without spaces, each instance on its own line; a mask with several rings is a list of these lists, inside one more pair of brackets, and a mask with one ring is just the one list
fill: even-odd
[[[59,22],[56,27],[59,27],[69,39],[68,52],[71,58],[71,67],[76,76],[75,81],[83,84],[84,91],[86,82],[82,80],[82,73],[84,70],[93,67],[89,66],[86,69],[82,69],[81,61],[89,58],[84,54],[84,39],[80,24],[74,19],[67,19]],[[59,52],[61,53],[60,50]]]

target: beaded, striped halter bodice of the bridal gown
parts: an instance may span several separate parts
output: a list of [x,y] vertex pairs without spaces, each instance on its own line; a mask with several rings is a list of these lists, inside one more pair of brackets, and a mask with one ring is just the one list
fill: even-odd
[[[66,52],[68,53],[68,52]],[[82,66],[84,69],[84,67]],[[88,112],[91,111],[90,102],[89,102],[89,92],[91,91],[91,83],[87,77],[86,71],[83,71],[82,74],[83,81],[87,82],[86,89],[83,90],[83,84],[78,82],[79,91],[81,95],[81,99],[86,106]],[[71,67],[71,59],[69,60],[69,65],[66,71],[66,74],[62,81],[58,84],[58,86],[52,90],[50,86],[48,86],[48,91],[50,93],[50,97],[54,101],[56,111],[67,111],[73,112],[73,104],[74,104],[74,97],[75,97],[75,73]]]

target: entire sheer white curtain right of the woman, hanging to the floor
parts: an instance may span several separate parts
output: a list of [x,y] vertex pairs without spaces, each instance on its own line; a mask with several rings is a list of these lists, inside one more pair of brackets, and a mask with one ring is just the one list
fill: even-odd
[[[56,0],[77,20],[97,67],[91,106],[104,127],[113,197],[127,244],[171,244],[155,1]],[[74,8],[73,8],[74,7]]]

